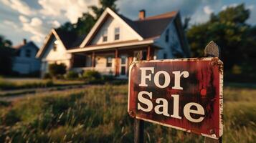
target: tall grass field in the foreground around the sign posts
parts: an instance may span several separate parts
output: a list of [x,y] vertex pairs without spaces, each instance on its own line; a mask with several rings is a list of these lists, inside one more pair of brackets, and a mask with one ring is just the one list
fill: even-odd
[[[127,85],[49,92],[0,102],[0,142],[133,142]],[[256,142],[256,89],[224,87],[223,142]],[[203,142],[196,134],[145,124],[146,142]]]

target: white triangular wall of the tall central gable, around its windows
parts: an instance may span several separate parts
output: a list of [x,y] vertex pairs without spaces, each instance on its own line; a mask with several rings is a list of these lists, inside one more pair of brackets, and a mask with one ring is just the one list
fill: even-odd
[[[115,40],[115,28],[119,28],[119,39]],[[107,31],[107,41],[103,41],[103,32]],[[98,31],[95,33],[95,36],[91,39],[89,44],[106,44],[113,43],[118,41],[130,41],[130,40],[138,40],[136,34],[134,34],[131,29],[128,29],[125,24],[120,23],[118,19],[115,19],[113,16],[108,16],[107,19],[103,22],[103,24],[99,27]]]

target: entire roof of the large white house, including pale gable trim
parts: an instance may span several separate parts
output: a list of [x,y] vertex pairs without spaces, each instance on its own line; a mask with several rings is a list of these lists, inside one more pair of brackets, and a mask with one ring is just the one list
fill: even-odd
[[[48,36],[49,38],[46,39],[46,42],[53,34],[58,40],[62,42],[67,50],[87,47],[97,33],[98,29],[100,29],[100,26],[104,23],[105,19],[108,19],[108,16],[113,16],[113,18],[117,19],[120,23],[123,23],[128,29],[131,29],[133,34],[135,34],[138,38],[138,41],[144,41],[154,40],[161,36],[161,34],[171,21],[175,22],[176,19],[179,19],[179,11],[171,11],[156,16],[148,16],[144,19],[138,19],[133,21],[123,16],[122,14],[117,14],[115,13],[115,11],[107,8],[100,16],[98,21],[95,23],[93,28],[90,30],[89,34],[87,34],[87,36],[77,36],[75,33],[72,32],[52,29],[51,35]],[[181,39],[182,38],[184,37],[181,37]],[[47,45],[46,42],[44,43],[44,46]],[[43,53],[44,46],[42,47],[42,49],[40,49],[38,56]]]

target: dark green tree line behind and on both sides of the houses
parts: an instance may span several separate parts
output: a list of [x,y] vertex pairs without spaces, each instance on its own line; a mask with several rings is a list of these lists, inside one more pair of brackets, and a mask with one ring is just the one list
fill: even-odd
[[[66,22],[58,29],[75,32],[77,35],[88,34],[107,7],[113,11],[118,11],[115,5],[116,1],[100,0],[100,6],[90,6],[91,12],[82,14],[75,24]],[[254,67],[256,61],[256,26],[246,23],[249,17],[250,10],[246,9],[244,4],[240,4],[227,7],[217,14],[212,13],[209,20],[204,23],[189,24],[189,19],[185,19],[184,29],[189,41],[191,57],[203,56],[204,47],[213,40],[221,47],[226,73],[245,74],[254,71],[256,69]],[[11,42],[7,41],[8,44],[1,36],[0,50],[11,46]],[[0,57],[1,65],[8,63],[3,60],[4,57]],[[1,68],[0,74],[4,73],[6,73],[6,68]],[[252,77],[256,76],[253,74]]]

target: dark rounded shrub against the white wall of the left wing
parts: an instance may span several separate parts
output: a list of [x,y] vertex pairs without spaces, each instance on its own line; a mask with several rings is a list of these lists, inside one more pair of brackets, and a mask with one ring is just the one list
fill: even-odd
[[63,63],[61,64],[49,64],[49,74],[53,77],[57,77],[66,73],[67,66]]

